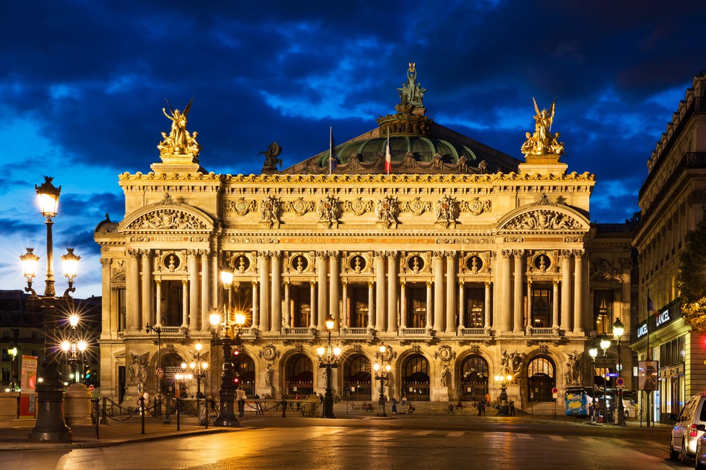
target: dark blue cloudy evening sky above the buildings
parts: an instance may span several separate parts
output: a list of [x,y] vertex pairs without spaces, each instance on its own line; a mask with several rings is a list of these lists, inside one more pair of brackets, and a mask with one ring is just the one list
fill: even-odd
[[[285,167],[394,112],[407,63],[427,114],[521,158],[532,97],[549,107],[569,171],[597,175],[591,219],[638,210],[647,159],[706,68],[702,1],[25,1],[0,7],[0,289],[18,256],[44,261],[34,185],[62,186],[56,272],[82,255],[76,296],[100,295],[92,231],[124,216],[118,175],[150,171],[164,97],[198,131],[209,171]],[[42,270],[45,267],[40,268]],[[57,291],[65,279],[57,275]],[[44,275],[35,279],[42,288]],[[37,289],[40,290],[40,289]]]

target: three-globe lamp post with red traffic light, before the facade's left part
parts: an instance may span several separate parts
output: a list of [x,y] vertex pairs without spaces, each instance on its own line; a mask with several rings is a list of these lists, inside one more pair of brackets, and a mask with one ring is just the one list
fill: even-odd
[[232,346],[240,347],[240,330],[245,324],[244,313],[235,314],[235,326],[238,332],[233,337],[233,325],[230,323],[230,312],[232,306],[232,285],[233,273],[222,271],[221,281],[228,291],[228,307],[225,311],[225,318],[221,321],[221,315],[214,313],[210,315],[211,323],[211,344],[223,347],[223,372],[221,374],[221,385],[218,390],[220,397],[220,409],[218,417],[213,422],[214,426],[237,427],[240,424],[239,419],[235,416],[233,404],[235,401],[235,385],[233,382],[233,364],[232,364]]

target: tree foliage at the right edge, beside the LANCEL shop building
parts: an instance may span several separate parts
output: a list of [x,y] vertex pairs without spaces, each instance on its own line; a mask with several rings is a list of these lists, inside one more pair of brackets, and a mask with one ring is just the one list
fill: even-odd
[[681,312],[694,330],[706,333],[706,219],[686,234],[686,246],[679,255]]

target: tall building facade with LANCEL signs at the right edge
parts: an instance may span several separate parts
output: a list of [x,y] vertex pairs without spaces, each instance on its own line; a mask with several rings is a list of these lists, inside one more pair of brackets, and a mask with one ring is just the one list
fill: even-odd
[[647,167],[634,241],[640,294],[633,349],[640,360],[659,361],[659,390],[650,397],[654,418],[666,421],[706,388],[704,338],[684,323],[678,299],[679,255],[706,209],[706,70],[686,90]]

